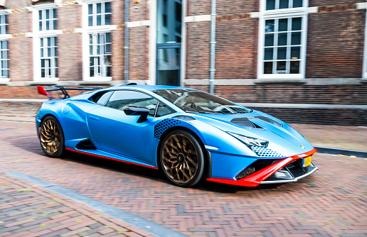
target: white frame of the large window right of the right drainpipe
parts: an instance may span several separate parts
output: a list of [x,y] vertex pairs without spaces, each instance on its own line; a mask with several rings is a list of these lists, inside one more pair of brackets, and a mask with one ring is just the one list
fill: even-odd
[[[306,67],[306,51],[307,51],[307,6],[308,0],[303,0],[303,6],[289,9],[265,10],[266,0],[260,0],[260,18],[259,18],[259,41],[257,48],[257,79],[272,80],[280,82],[282,80],[301,80],[305,78]],[[265,74],[264,73],[264,43],[265,43],[265,21],[282,18],[296,18],[302,17],[302,37],[301,37],[301,51],[299,61],[298,74]],[[284,45],[289,47],[289,45]],[[288,59],[289,60],[289,59]],[[287,60],[286,60],[287,61]]]

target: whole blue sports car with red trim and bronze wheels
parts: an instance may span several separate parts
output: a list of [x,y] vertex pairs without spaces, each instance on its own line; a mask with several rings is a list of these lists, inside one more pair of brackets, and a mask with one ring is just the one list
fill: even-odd
[[[68,90],[90,90],[69,97]],[[316,149],[268,114],[186,87],[120,84],[60,90],[36,116],[41,148],[65,150],[161,170],[180,187],[201,180],[255,187],[295,182],[317,170]]]

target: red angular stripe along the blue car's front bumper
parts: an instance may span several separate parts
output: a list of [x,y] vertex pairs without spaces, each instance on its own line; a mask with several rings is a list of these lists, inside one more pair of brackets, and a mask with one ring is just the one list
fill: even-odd
[[264,169],[259,170],[253,173],[252,175],[249,175],[248,177],[244,177],[243,179],[240,179],[240,180],[225,180],[225,179],[216,179],[216,178],[209,178],[206,180],[211,181],[211,182],[220,182],[222,184],[232,184],[232,185],[245,186],[245,187],[256,187],[257,185],[260,184],[260,182],[266,180],[272,174],[277,172],[277,170],[280,170],[282,167],[284,167],[285,165],[288,165],[293,160],[306,158],[307,156],[314,155],[314,153],[316,152],[317,150],[316,148],[314,148],[313,150],[310,150],[307,153],[293,155],[289,158],[285,158],[283,160],[276,162],[275,164],[265,167]]

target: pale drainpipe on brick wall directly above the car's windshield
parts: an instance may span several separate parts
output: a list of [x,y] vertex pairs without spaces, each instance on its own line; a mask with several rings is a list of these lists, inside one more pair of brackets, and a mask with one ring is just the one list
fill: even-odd
[[209,93],[214,94],[214,73],[216,72],[216,0],[211,0],[211,68],[209,69]]

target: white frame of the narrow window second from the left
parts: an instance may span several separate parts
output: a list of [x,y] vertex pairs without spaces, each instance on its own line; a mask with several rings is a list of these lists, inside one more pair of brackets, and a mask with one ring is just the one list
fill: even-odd
[[[60,34],[60,31],[57,29],[39,31],[39,11],[47,9],[56,9],[57,11],[57,8],[58,4],[41,4],[33,6],[33,81],[35,82],[57,82],[59,80],[58,77],[41,77],[41,39],[55,37],[57,42],[57,36]],[[58,47],[56,47],[55,50],[58,50]],[[56,58],[56,61],[58,60],[58,56],[53,58]],[[58,67],[55,68],[58,70]]]

